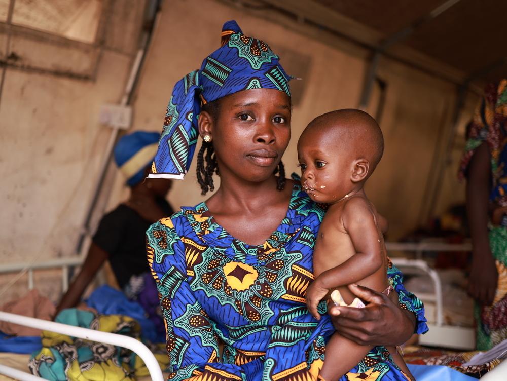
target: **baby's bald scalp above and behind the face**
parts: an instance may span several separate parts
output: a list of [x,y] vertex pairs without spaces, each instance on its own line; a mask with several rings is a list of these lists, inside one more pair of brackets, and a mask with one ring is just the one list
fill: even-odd
[[384,153],[384,137],[379,125],[368,113],[358,109],[342,109],[318,116],[306,127],[300,139],[319,134],[337,148],[346,147],[355,158],[370,162],[369,177]]

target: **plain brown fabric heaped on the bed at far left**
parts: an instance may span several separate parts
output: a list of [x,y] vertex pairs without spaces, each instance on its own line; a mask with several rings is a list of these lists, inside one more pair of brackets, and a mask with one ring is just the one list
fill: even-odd
[[[56,308],[47,297],[39,295],[37,290],[31,290],[21,299],[5,303],[0,307],[0,311],[29,316],[31,318],[52,320],[55,315]],[[40,329],[25,327],[5,321],[0,321],[0,331],[8,335],[18,336],[41,335]]]

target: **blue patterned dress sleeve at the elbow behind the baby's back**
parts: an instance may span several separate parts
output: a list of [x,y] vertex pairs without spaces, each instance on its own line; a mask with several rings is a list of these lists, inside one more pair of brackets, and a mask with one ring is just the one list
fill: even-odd
[[398,293],[400,307],[404,310],[412,311],[416,317],[414,333],[426,333],[428,331],[427,320],[424,317],[424,305],[422,301],[412,292],[406,290],[403,285],[403,274],[391,262],[387,268],[387,276],[392,281],[394,290]]

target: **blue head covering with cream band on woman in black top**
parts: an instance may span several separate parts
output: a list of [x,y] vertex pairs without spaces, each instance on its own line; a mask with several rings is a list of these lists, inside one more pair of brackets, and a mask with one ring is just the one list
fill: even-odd
[[158,132],[136,131],[122,136],[115,145],[115,163],[127,178],[127,184],[134,186],[144,178],[144,170],[157,153],[160,134]]

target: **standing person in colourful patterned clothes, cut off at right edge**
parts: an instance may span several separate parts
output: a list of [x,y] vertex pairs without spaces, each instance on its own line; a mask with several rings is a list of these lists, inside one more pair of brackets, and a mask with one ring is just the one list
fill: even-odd
[[467,133],[460,177],[472,233],[468,293],[476,300],[476,348],[507,338],[507,79],[486,86]]

